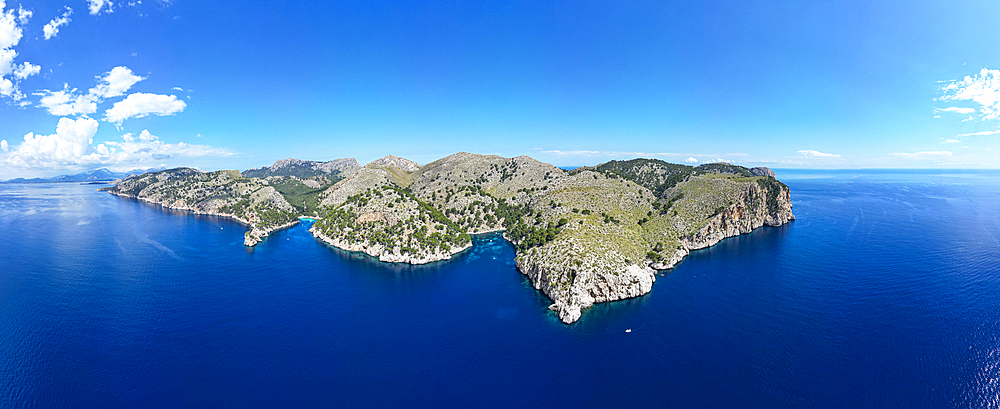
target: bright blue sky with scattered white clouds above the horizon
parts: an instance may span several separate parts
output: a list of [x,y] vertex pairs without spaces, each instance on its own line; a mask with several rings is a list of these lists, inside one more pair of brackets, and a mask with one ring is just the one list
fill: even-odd
[[458,151],[1000,167],[995,0],[2,4],[0,180]]

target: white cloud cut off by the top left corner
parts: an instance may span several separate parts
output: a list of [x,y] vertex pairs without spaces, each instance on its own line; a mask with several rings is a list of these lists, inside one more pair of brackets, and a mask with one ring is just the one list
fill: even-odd
[[6,7],[6,2],[0,0],[0,95],[17,101],[24,98],[19,87],[21,80],[37,74],[40,67],[28,62],[21,65],[14,62],[17,58],[14,47],[21,41],[22,26],[27,24],[31,12],[21,7],[17,10],[7,10]]

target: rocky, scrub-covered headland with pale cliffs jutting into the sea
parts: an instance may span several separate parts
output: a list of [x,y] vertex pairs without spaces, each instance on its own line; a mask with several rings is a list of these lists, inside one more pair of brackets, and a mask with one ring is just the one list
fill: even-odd
[[230,217],[248,227],[247,246],[314,218],[318,240],[384,262],[447,260],[471,235],[500,232],[567,324],[595,303],[648,293],[657,270],[691,250],[795,219],[788,186],[768,168],[656,159],[572,171],[466,152],[423,166],[392,155],[364,166],[287,159],[245,172],[151,172],[105,190]]

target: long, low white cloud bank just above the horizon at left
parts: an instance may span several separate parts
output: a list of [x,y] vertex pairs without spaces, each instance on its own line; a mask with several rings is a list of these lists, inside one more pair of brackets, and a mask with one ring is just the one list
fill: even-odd
[[56,133],[29,132],[16,147],[0,141],[0,165],[8,170],[56,170],[81,167],[135,167],[154,165],[178,157],[231,156],[225,148],[184,142],[166,143],[143,130],[138,137],[122,135],[121,141],[94,145],[98,121],[91,118],[60,118]]

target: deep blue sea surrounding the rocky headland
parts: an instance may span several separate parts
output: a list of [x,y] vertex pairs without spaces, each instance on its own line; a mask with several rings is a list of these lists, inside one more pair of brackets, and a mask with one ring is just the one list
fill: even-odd
[[797,221],[570,326],[498,237],[389,265],[0,185],[0,407],[1000,406],[1000,172],[779,178]]

